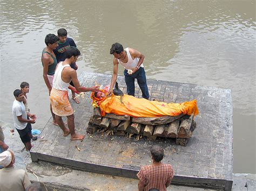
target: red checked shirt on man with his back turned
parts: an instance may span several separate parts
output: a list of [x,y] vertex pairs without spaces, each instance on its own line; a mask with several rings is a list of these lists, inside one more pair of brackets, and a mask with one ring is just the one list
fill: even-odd
[[144,183],[144,190],[156,188],[166,190],[166,182],[173,178],[174,172],[170,164],[143,166],[137,174]]

